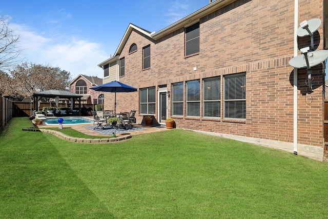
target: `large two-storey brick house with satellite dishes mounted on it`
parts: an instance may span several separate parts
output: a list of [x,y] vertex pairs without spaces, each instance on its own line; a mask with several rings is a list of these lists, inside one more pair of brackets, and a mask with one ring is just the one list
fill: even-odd
[[114,56],[99,64],[113,61],[119,81],[138,88],[117,94],[116,111],[137,110],[138,123],[173,117],[177,128],[325,159],[323,65],[312,67],[310,93],[308,71],[289,61],[300,55],[298,44],[311,43],[295,37],[304,20],[321,19],[314,42],[325,49],[328,1],[297,2],[217,0],[158,32],[130,24]]

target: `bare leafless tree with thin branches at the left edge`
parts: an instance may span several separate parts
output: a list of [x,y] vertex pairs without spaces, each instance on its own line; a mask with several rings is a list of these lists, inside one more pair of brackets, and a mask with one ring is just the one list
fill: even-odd
[[19,35],[8,27],[8,17],[0,16],[0,70],[4,71],[17,65],[20,49],[16,47]]

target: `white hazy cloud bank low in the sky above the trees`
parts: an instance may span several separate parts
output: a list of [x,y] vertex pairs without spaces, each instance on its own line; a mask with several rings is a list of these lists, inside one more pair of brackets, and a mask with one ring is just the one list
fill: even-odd
[[19,46],[23,49],[21,55],[24,61],[59,67],[69,71],[72,78],[78,74],[103,76],[97,64],[108,56],[100,44],[72,36],[45,37],[23,25],[11,24],[11,28],[20,35]]

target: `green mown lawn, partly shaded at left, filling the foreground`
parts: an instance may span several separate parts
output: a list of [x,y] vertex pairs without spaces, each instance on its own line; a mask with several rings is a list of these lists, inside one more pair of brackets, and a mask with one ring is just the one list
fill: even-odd
[[328,164],[174,129],[84,144],[0,134],[1,218],[327,218]]

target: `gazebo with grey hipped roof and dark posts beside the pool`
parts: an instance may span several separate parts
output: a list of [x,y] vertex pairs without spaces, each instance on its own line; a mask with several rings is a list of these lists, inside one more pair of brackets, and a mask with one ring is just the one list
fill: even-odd
[[46,90],[36,92],[33,93],[33,108],[38,109],[38,102],[41,98],[45,97],[55,98],[57,107],[59,98],[71,99],[72,107],[75,103],[75,99],[78,99],[78,115],[81,115],[81,97],[83,97],[83,95],[79,95],[67,90]]

